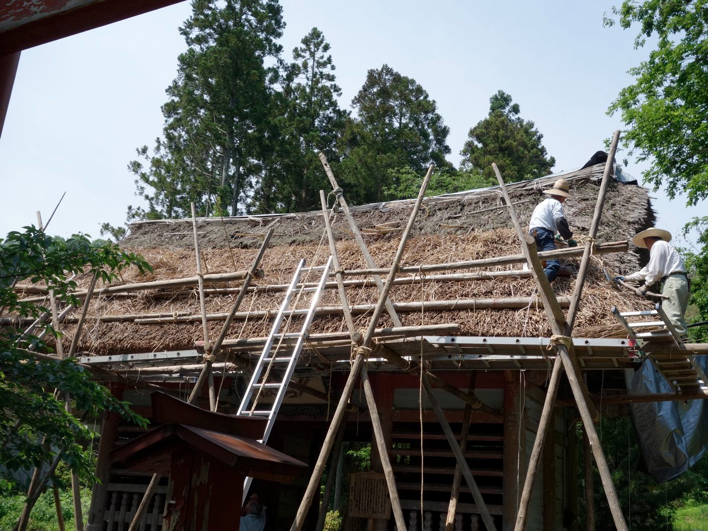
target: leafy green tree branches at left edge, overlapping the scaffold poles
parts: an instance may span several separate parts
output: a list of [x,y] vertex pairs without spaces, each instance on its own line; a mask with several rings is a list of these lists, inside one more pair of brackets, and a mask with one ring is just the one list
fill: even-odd
[[[81,442],[95,434],[65,409],[64,393],[71,394],[74,410],[115,411],[144,426],[143,418],[94,382],[76,360],[35,355],[35,351],[52,351],[40,338],[43,329],[55,337],[61,334],[40,319],[50,313],[47,303],[25,302],[13,288],[17,282],[39,282],[54,290],[59,304],[79,307],[81,301],[72,295],[74,275],[89,271],[110,282],[130,265],[141,271],[150,266],[141,256],[121,251],[115,244],[96,246],[81,234],[64,241],[35,227],[24,228],[25,232],[11,232],[0,239],[0,308],[39,320],[38,327],[24,333],[0,328],[0,486],[5,489],[18,489],[23,474],[50,462],[64,462],[79,474],[93,477]],[[30,496],[31,503],[47,481],[62,483],[51,468],[42,474],[41,488]]]

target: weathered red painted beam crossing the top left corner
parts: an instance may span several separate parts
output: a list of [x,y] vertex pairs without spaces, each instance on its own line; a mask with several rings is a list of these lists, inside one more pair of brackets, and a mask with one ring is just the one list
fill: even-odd
[[62,39],[183,0],[5,0],[0,55]]

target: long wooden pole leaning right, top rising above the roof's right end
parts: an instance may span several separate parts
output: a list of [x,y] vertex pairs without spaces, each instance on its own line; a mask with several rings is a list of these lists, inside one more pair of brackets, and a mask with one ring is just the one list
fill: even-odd
[[[610,182],[610,174],[612,173],[612,161],[615,160],[615,153],[617,152],[618,142],[619,131],[616,131],[614,137],[612,138],[610,154],[607,156],[607,164],[605,164],[603,180],[600,183],[600,192],[598,193],[598,200],[595,203],[595,212],[593,213],[593,221],[590,224],[588,241],[586,241],[585,250],[583,251],[583,258],[581,261],[581,267],[578,270],[578,277],[576,279],[575,289],[573,290],[573,297],[571,299],[571,306],[568,312],[568,319],[566,321],[566,326],[564,329],[564,336],[571,335],[573,331],[573,324],[575,323],[575,316],[578,312],[578,307],[580,306],[580,299],[583,292],[583,286],[585,285],[588,267],[590,265],[590,254],[592,253],[593,245],[595,243],[593,240],[598,234],[598,227],[600,226],[600,217],[602,217],[603,206],[605,205],[607,185]],[[539,426],[536,432],[536,440],[534,442],[534,446],[532,448],[531,455],[529,458],[529,466],[526,472],[527,475],[524,481],[523,491],[520,498],[519,509],[516,518],[516,531],[522,531],[526,525],[528,506],[531,499],[531,490],[533,488],[536,472],[538,470],[538,465],[541,460],[544,440],[546,438],[549,424],[551,423],[551,419],[553,416],[552,409],[556,400],[556,394],[558,392],[562,363],[563,362],[561,361],[561,358],[556,357],[556,360],[554,361],[553,372],[548,385],[548,390],[546,392],[546,400],[544,402],[541,418],[539,419]]]

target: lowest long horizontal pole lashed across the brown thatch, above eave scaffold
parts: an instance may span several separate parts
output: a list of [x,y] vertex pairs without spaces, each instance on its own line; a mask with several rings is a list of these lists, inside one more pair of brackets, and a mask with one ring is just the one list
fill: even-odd
[[[558,297],[561,307],[570,305],[569,297]],[[538,304],[542,307],[542,301],[537,297],[505,297],[501,299],[459,299],[459,300],[438,300],[438,301],[414,301],[414,302],[394,302],[394,308],[398,312],[432,312],[432,311],[455,311],[466,309],[520,309],[526,308],[530,304]],[[352,314],[367,314],[376,309],[376,304],[355,304],[349,307]],[[304,316],[307,309],[292,310],[292,316]],[[321,315],[342,315],[344,312],[341,306],[324,306],[315,310],[316,316]],[[257,310],[255,312],[238,312],[234,314],[234,319],[268,319],[275,316],[278,310]],[[207,321],[221,321],[227,318],[226,313],[207,314]],[[157,323],[190,323],[200,321],[200,315],[147,317],[139,315],[101,317],[103,322],[111,321],[132,321],[135,324],[157,324]]]

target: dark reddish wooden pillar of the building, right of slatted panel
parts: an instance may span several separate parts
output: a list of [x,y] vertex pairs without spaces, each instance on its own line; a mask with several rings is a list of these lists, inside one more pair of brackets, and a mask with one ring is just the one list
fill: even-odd
[[514,528],[518,510],[519,482],[526,469],[525,423],[520,408],[520,371],[504,371],[504,531]]

